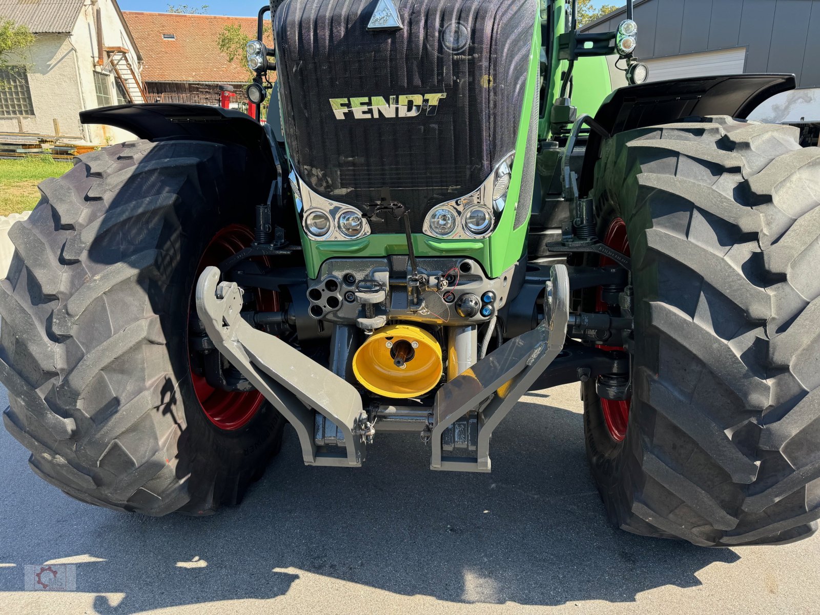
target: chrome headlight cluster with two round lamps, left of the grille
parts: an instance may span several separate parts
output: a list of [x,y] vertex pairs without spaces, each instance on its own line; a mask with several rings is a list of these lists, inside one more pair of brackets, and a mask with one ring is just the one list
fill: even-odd
[[358,209],[316,194],[295,171],[290,171],[288,180],[307,239],[349,241],[370,235],[370,224]]

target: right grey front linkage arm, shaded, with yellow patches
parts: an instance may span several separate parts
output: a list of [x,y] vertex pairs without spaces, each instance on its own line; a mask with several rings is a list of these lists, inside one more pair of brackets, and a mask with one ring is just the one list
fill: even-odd
[[[544,312],[544,320],[534,330],[503,344],[435,394],[431,469],[490,471],[490,435],[563,348],[569,320],[569,275],[564,265],[550,268]],[[476,408],[476,457],[444,457],[444,432]]]

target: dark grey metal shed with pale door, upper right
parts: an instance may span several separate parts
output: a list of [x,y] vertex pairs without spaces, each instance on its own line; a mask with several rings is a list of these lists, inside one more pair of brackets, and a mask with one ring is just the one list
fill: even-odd
[[[622,9],[586,25],[617,29]],[[820,0],[640,0],[638,47],[650,80],[740,72],[788,72],[795,92],[763,104],[755,119],[820,121]]]

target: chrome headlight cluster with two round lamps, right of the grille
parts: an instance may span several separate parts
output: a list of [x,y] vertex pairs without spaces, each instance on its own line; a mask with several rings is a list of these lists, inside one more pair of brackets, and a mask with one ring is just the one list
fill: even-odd
[[504,157],[471,194],[433,207],[425,218],[424,234],[436,239],[485,239],[492,235],[507,205],[514,158],[514,152]]

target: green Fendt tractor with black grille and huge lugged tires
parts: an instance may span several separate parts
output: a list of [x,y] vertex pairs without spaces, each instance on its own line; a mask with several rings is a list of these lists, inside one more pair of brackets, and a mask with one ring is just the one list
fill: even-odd
[[403,431],[432,470],[486,472],[522,394],[580,382],[617,526],[811,535],[820,149],[742,119],[794,77],[646,82],[631,2],[605,34],[572,8],[271,2],[248,43],[265,123],[84,112],[140,140],[78,157],[11,228],[0,380],[34,471],[203,515],[290,423],[308,465]]

